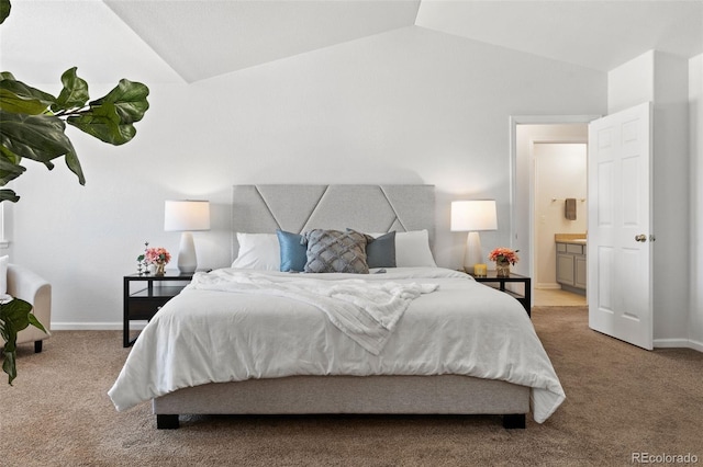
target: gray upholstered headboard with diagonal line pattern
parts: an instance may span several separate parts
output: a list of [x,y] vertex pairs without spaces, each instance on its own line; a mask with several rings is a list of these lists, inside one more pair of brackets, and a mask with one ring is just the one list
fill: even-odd
[[[434,224],[434,185],[234,185],[233,190],[234,232],[427,229],[432,248]],[[236,235],[232,237],[236,257],[239,247]]]

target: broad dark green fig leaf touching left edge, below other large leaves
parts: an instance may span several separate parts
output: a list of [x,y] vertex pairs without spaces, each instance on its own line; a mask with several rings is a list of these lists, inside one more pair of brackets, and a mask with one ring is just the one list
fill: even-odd
[[0,146],[21,158],[46,164],[72,151],[65,128],[66,124],[53,115],[24,115],[0,110]]

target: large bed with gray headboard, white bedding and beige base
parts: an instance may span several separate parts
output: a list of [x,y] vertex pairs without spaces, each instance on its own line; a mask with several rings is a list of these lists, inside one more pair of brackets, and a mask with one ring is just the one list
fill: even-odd
[[[236,185],[232,206],[233,267],[197,273],[145,327],[109,391],[118,410],[152,400],[159,429],[179,414],[305,413],[525,428],[565,400],[522,305],[434,263],[434,186]],[[368,270],[282,272],[281,250],[298,247],[277,230],[306,232],[309,255],[313,232],[362,232]]]

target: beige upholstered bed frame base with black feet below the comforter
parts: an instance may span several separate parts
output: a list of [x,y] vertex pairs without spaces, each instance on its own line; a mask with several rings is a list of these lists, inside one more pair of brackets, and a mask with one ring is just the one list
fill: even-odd
[[529,388],[470,376],[291,376],[213,383],[153,400],[156,426],[178,414],[496,414],[524,429]]

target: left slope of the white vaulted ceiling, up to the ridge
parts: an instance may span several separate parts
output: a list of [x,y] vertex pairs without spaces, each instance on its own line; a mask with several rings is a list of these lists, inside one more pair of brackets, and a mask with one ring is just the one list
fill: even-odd
[[103,0],[194,82],[415,23],[420,0]]

